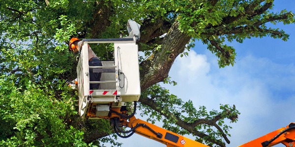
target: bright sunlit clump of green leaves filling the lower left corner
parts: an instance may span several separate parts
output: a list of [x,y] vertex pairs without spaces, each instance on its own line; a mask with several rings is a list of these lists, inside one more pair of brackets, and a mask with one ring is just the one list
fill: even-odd
[[[66,126],[64,120],[77,112],[73,100],[66,93],[55,98],[55,92],[44,85],[15,77],[0,78],[0,145],[2,146],[76,146],[84,145],[83,132]],[[64,89],[59,84],[60,89]],[[9,124],[9,125],[7,125]]]

